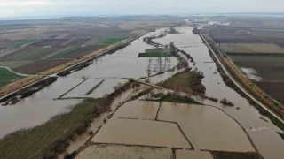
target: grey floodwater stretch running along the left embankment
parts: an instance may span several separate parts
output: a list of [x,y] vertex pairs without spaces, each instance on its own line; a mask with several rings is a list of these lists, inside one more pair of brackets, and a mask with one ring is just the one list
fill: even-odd
[[[146,34],[145,36],[159,34],[162,30],[164,29]],[[20,129],[42,125],[50,120],[51,117],[68,112],[69,108],[81,101],[74,99],[54,100],[61,95],[67,93],[63,98],[86,97],[85,94],[91,87],[94,87],[101,79],[106,79],[96,91],[91,95],[87,95],[87,97],[102,97],[113,92],[113,87],[118,83],[126,81],[120,80],[120,78],[146,77],[149,59],[138,58],[138,54],[144,52],[145,49],[153,47],[143,42],[143,37],[131,42],[129,46],[116,51],[114,54],[95,60],[93,64],[80,72],[74,72],[67,77],[60,77],[51,86],[45,87],[37,92],[36,95],[25,98],[11,107],[0,106],[0,138]],[[175,57],[170,59],[170,68],[176,66],[177,59]],[[160,77],[151,79],[153,81],[161,81],[169,76],[170,73],[165,73]],[[76,87],[83,79],[87,80]]]

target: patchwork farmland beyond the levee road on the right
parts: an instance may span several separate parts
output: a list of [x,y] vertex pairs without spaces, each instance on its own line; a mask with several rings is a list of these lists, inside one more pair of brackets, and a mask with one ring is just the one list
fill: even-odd
[[[225,19],[225,18],[224,18]],[[284,28],[280,18],[232,18],[233,24],[214,27],[209,35],[233,62],[253,69],[262,79],[255,81],[277,101],[284,103]],[[249,76],[249,75],[248,75]]]

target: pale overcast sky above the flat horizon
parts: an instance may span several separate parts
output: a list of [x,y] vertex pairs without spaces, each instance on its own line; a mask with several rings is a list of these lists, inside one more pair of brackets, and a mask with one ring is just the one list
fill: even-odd
[[0,0],[0,18],[283,12],[284,0]]

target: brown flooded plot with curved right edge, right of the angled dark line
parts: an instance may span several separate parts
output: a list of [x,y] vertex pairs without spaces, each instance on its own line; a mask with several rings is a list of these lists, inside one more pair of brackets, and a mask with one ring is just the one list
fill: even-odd
[[195,149],[255,151],[241,126],[214,107],[162,102],[158,120],[177,122]]

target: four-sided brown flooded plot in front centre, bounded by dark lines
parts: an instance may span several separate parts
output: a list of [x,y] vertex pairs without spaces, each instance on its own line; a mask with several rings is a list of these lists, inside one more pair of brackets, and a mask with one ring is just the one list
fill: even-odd
[[91,141],[94,143],[191,148],[175,124],[123,118],[109,120]]

